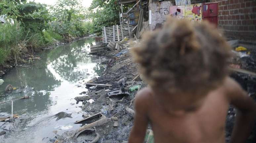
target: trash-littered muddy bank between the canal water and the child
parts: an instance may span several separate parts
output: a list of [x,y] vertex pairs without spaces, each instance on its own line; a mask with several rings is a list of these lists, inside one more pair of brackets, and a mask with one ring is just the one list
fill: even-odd
[[[82,83],[88,91],[81,92],[81,96],[74,98],[77,104],[83,104],[83,115],[74,123],[81,124],[80,128],[66,132],[64,139],[58,137],[55,141],[128,141],[133,125],[135,95],[147,84],[141,79],[138,65],[132,61],[130,43],[120,43],[119,47],[122,48],[108,53],[111,58],[106,62],[107,68],[100,77]],[[149,137],[152,138],[152,135],[148,135]]]

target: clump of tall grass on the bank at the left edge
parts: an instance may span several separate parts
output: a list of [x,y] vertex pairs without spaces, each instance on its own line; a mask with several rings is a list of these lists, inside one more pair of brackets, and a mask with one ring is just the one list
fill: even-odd
[[37,51],[44,44],[40,34],[31,34],[25,31],[20,22],[15,24],[5,23],[0,25],[0,65],[6,61],[23,62],[22,56],[29,50]]

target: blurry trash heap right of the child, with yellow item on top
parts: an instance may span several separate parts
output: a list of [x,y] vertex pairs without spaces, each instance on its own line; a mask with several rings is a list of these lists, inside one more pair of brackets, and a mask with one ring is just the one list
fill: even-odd
[[[233,71],[230,75],[242,88],[248,92],[256,101],[256,43],[232,40],[229,41],[233,47],[234,57],[231,60],[230,69]],[[230,107],[226,121],[226,141],[231,137],[235,122],[235,108]],[[254,127],[251,136],[246,143],[253,143],[256,140],[256,127]]]

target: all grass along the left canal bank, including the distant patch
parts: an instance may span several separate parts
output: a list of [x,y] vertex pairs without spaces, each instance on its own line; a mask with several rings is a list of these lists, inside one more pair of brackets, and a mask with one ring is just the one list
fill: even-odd
[[[31,33],[26,31],[21,23],[16,21],[15,24],[0,24],[0,66],[7,61],[18,65],[19,62],[25,62],[24,57],[29,52],[36,52],[45,44],[53,44],[57,40],[64,40],[60,32],[49,28],[41,33]],[[73,36],[85,36],[93,32],[91,22],[76,23],[76,26],[69,27]]]

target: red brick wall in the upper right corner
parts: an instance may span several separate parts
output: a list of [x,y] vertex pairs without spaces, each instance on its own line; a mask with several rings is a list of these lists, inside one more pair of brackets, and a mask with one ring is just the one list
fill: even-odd
[[212,0],[219,3],[219,28],[228,39],[256,41],[256,0]]

